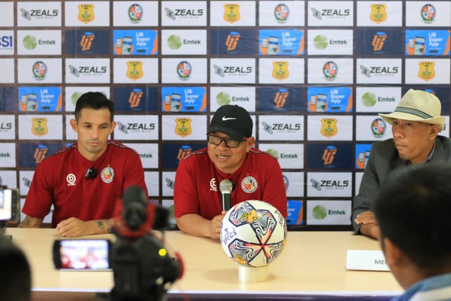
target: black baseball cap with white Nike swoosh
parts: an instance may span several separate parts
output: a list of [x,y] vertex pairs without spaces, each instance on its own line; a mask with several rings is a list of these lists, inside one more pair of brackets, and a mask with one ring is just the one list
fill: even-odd
[[252,118],[241,106],[226,104],[220,106],[211,118],[206,134],[221,132],[236,141],[252,136]]

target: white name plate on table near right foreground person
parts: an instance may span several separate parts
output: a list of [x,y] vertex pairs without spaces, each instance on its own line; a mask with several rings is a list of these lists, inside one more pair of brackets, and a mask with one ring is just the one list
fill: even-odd
[[347,250],[347,270],[390,271],[382,251]]

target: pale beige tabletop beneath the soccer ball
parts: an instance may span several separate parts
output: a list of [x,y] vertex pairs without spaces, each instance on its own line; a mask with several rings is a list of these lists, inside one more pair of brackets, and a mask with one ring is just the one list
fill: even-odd
[[[58,271],[52,246],[61,239],[55,229],[8,228],[6,234],[25,252],[36,291],[98,291],[113,288],[112,271]],[[84,238],[113,238],[92,235]],[[223,252],[221,243],[180,231],[165,233],[165,246],[183,258],[185,274],[173,293],[257,293],[325,295],[399,295],[402,288],[389,271],[347,271],[347,250],[379,250],[376,240],[352,232],[288,232],[287,245],[269,265],[269,278],[243,283],[238,264]]]

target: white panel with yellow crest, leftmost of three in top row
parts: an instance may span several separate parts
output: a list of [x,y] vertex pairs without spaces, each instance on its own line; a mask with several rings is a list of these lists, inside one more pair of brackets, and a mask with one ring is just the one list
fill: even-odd
[[75,27],[110,25],[110,1],[70,1],[64,3],[65,24]]

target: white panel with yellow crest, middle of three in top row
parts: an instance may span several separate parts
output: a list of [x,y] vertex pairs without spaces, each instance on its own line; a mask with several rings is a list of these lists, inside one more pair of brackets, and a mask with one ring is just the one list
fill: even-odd
[[211,26],[255,26],[256,1],[210,1]]

